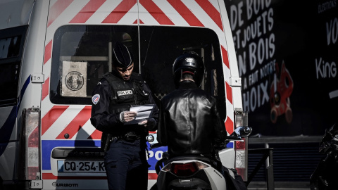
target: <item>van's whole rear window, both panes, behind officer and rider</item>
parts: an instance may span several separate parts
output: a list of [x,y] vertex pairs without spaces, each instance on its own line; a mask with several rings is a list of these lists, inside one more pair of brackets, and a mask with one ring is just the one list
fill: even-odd
[[50,99],[56,104],[91,105],[92,91],[102,75],[111,70],[111,49],[125,44],[134,55],[134,72],[149,84],[154,98],[175,89],[172,66],[183,51],[204,58],[202,89],[219,101],[225,117],[223,63],[217,34],[201,27],[65,25],[55,33]]

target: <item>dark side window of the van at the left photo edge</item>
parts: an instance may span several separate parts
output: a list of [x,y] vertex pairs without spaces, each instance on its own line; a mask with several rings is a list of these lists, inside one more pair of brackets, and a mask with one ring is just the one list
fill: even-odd
[[15,106],[18,103],[18,82],[26,30],[27,26],[0,30],[0,106]]

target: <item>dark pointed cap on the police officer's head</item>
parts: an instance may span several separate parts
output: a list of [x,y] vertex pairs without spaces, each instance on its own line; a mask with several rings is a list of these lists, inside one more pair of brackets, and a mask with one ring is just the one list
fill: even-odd
[[128,68],[132,65],[133,61],[132,52],[127,49],[127,46],[116,42],[113,49],[113,65],[119,68]]

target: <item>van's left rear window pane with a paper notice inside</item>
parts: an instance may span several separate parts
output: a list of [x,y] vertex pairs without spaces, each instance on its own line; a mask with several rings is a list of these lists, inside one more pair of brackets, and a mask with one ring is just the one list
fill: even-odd
[[51,102],[91,104],[97,82],[112,70],[109,51],[117,41],[123,42],[134,54],[137,72],[139,46],[136,26],[60,27],[54,36]]

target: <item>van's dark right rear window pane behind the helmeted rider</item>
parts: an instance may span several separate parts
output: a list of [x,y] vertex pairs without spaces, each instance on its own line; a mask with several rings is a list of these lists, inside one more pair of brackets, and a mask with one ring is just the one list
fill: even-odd
[[195,51],[206,66],[201,88],[215,96],[220,115],[225,119],[225,82],[217,34],[208,28],[164,26],[142,26],[139,33],[141,73],[157,100],[175,90],[175,58],[183,51]]

